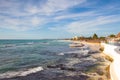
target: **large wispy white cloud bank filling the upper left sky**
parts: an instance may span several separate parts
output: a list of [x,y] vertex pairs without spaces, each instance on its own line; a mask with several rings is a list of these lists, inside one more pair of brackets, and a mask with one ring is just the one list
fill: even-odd
[[46,23],[53,22],[54,17],[49,18],[47,15],[55,15],[57,11],[64,11],[85,1],[47,0],[42,5],[40,3],[34,5],[31,2],[1,0],[0,13],[8,15],[8,17],[0,16],[0,27],[18,31],[35,29]]

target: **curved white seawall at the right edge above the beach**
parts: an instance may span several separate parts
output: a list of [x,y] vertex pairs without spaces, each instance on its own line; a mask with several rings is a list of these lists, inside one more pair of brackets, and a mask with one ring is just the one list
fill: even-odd
[[110,58],[112,58],[112,63],[110,64],[110,75],[111,75],[111,80],[119,80],[119,74],[120,70],[118,69],[120,67],[119,61],[120,61],[120,55],[119,55],[119,50],[120,47],[117,45],[110,45],[110,44],[105,44],[101,43],[102,46],[104,46],[104,53]]

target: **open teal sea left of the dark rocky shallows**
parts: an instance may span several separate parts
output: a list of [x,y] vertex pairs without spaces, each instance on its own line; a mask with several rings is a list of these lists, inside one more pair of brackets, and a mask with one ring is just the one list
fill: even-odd
[[63,60],[60,53],[75,50],[69,47],[70,43],[55,39],[0,40],[0,78],[18,76],[25,71],[32,73],[29,70]]

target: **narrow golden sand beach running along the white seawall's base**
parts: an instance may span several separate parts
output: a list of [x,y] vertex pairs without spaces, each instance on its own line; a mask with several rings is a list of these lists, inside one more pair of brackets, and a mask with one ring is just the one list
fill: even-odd
[[[73,42],[87,44],[90,47],[90,49],[93,50],[93,51],[100,51],[100,48],[103,48],[103,46],[101,46],[101,43],[98,43],[98,42],[86,42],[86,41],[73,41]],[[110,65],[112,63],[111,58],[108,55],[106,55],[104,52],[99,52],[98,55],[94,55],[94,56],[95,57],[101,56],[106,60],[106,62],[103,63],[103,64],[105,64],[105,66],[103,66],[103,67],[106,68],[106,72],[107,72],[106,77],[108,77],[107,80],[111,80],[110,79]]]

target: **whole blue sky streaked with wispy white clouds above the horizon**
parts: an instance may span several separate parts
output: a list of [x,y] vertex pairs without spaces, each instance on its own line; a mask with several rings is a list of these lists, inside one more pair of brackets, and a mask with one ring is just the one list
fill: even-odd
[[120,0],[0,0],[0,39],[120,32]]

